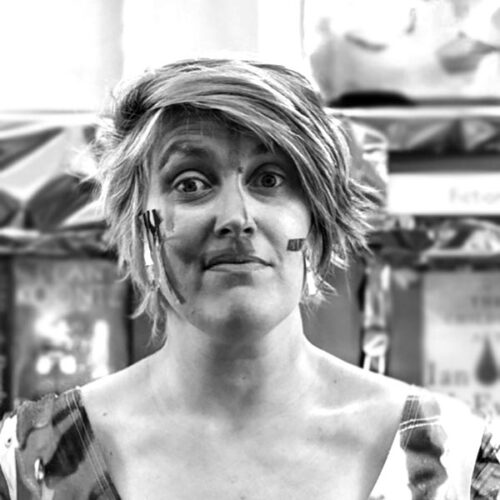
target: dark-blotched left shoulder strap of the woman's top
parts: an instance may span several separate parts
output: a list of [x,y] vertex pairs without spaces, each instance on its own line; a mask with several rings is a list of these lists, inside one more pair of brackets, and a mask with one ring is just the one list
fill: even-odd
[[119,500],[76,390],[27,402],[2,424],[0,500]]

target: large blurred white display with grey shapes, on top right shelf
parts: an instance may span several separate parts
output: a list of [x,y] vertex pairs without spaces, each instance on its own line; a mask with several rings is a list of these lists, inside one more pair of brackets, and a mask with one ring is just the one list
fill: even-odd
[[495,0],[307,0],[303,31],[330,105],[500,98]]

